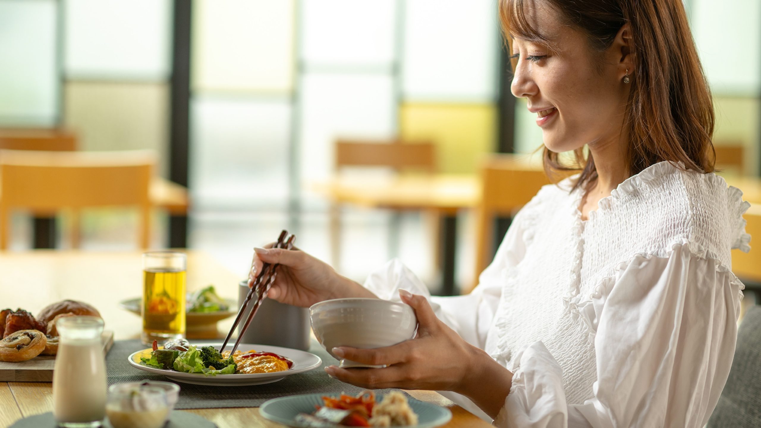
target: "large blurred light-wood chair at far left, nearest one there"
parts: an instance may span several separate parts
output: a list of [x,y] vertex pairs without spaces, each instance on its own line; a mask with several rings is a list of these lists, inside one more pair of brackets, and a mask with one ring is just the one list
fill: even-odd
[[52,216],[72,213],[72,247],[79,247],[79,211],[96,206],[136,206],[139,245],[148,248],[152,151],[30,152],[0,150],[0,250],[8,248],[13,209]]

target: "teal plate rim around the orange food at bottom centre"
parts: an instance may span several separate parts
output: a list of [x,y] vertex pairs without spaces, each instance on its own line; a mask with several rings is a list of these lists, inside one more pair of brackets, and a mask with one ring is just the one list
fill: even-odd
[[[323,405],[323,395],[325,394],[291,395],[290,397],[275,398],[262,404],[262,407],[259,408],[259,414],[274,422],[300,427],[301,425],[295,422],[295,417],[301,413],[310,414],[314,412],[314,406]],[[383,396],[379,395],[375,399],[380,402],[383,400]],[[418,414],[418,424],[414,428],[433,428],[444,425],[452,419],[452,412],[446,407],[418,401],[415,398],[407,398],[407,400],[409,407],[412,407],[412,410]]]

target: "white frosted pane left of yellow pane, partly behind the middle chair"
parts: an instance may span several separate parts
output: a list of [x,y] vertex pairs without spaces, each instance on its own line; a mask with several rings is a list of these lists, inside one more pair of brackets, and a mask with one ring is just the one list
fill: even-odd
[[395,134],[396,100],[390,75],[307,73],[301,81],[301,180],[333,171],[337,137],[387,139]]

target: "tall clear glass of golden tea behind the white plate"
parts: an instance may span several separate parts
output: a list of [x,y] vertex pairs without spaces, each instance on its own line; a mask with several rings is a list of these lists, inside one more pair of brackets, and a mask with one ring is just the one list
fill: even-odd
[[187,258],[174,251],[143,254],[142,342],[185,336]]

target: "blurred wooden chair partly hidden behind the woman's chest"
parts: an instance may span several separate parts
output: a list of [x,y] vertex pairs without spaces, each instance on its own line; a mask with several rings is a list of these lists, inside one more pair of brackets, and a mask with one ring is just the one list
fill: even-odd
[[476,210],[476,271],[470,289],[478,285],[479,275],[492,261],[495,219],[512,217],[542,186],[550,183],[543,169],[529,164],[526,158],[526,155],[493,154],[482,161],[481,202]]

